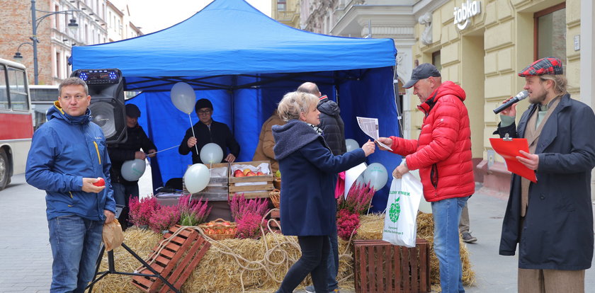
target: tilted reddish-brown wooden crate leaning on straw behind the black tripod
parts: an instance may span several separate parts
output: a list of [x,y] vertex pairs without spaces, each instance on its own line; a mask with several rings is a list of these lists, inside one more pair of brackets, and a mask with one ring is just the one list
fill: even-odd
[[[168,239],[178,229],[179,226],[171,227],[168,233],[164,234],[164,239]],[[152,268],[157,270],[176,289],[180,289],[209,248],[210,243],[203,239],[198,231],[185,229],[175,236],[158,255],[147,260],[147,263],[152,263]],[[153,248],[153,251],[158,249],[159,245]],[[140,273],[152,275],[152,272],[147,268],[140,270]],[[132,285],[140,288],[143,292],[171,291],[171,288],[164,285],[158,277],[133,276]]]

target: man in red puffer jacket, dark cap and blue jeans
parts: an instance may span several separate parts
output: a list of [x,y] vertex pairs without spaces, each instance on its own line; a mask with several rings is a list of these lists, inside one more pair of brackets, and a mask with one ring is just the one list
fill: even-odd
[[428,63],[413,69],[404,87],[413,87],[421,103],[418,108],[425,114],[419,138],[380,137],[378,141],[405,156],[393,176],[401,178],[419,169],[424,197],[432,207],[442,292],[465,292],[458,224],[467,199],[475,192],[465,91],[452,81],[442,82],[440,71]]

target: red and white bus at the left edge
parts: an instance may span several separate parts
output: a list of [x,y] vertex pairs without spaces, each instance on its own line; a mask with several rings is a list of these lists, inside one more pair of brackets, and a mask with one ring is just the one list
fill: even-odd
[[0,59],[0,190],[13,174],[24,173],[33,138],[26,69]]

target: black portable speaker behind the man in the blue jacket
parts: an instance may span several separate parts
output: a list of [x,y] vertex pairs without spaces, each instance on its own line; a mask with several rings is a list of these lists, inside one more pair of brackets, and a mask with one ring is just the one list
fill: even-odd
[[71,76],[84,80],[89,86],[91,119],[103,130],[106,142],[125,142],[124,79],[120,69],[78,69]]

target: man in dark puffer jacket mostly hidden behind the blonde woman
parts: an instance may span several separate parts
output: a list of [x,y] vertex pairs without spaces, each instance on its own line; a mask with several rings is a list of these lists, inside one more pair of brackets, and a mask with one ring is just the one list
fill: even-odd
[[[347,152],[345,124],[339,115],[341,113],[339,105],[333,100],[329,100],[327,96],[322,96],[318,86],[312,82],[305,82],[297,88],[297,91],[312,93],[314,96],[319,97],[317,108],[320,111],[320,124],[317,126],[322,130],[322,137],[324,137],[324,141],[327,142],[327,145],[335,156],[345,154]],[[329,290],[333,292],[335,289],[337,291],[339,289],[339,285],[336,282],[336,275],[339,272],[339,247],[336,239],[336,227],[334,234],[329,236],[329,239],[331,242],[331,251],[329,253],[329,260],[327,261],[329,265],[328,282]],[[314,286],[307,286],[306,292],[315,292]]]

